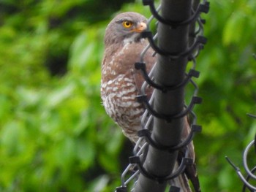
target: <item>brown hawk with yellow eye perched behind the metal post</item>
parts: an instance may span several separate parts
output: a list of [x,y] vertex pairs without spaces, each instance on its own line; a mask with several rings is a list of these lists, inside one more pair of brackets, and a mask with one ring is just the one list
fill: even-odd
[[[138,12],[123,12],[110,21],[105,30],[105,51],[102,58],[101,88],[102,105],[132,143],[138,141],[138,131],[142,128],[141,118],[145,112],[137,96],[143,84],[143,77],[135,69],[135,62],[140,61],[140,53],[148,45],[142,37],[146,31],[147,19]],[[147,72],[150,72],[157,61],[154,50],[149,48],[144,55]],[[150,99],[153,88],[148,88],[146,95]],[[184,118],[184,131],[181,139],[186,139],[190,132],[188,118]],[[195,162],[195,151],[192,142],[188,146],[189,156]],[[182,150],[179,154],[182,155]],[[185,173],[186,172],[186,173]],[[185,172],[170,183],[191,192],[190,179],[196,192],[200,192],[195,163],[187,166]]]

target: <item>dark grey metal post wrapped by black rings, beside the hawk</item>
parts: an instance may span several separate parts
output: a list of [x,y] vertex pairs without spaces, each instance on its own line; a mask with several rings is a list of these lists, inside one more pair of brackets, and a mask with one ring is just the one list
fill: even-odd
[[[191,13],[192,0],[162,0],[162,18],[173,21],[187,20]],[[187,50],[189,38],[189,26],[171,28],[159,23],[158,45],[169,53],[181,53]],[[170,57],[158,55],[158,62],[154,73],[154,79],[161,85],[178,85],[184,80],[187,58],[176,60]],[[156,90],[154,98],[154,110],[165,115],[176,115],[184,110],[184,88],[163,93]],[[152,138],[160,145],[175,146],[181,141],[181,131],[184,127],[183,118],[167,122],[154,118]],[[144,168],[156,177],[167,177],[173,172],[178,152],[168,153],[149,146]],[[135,192],[165,191],[166,182],[158,183],[140,174]]]

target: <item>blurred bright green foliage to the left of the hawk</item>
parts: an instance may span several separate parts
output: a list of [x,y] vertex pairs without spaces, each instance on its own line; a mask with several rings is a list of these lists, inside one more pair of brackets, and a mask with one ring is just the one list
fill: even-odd
[[[80,4],[2,3],[0,191],[101,191],[121,172],[123,136],[99,98],[105,23],[67,18]],[[67,57],[67,74],[51,76]]]

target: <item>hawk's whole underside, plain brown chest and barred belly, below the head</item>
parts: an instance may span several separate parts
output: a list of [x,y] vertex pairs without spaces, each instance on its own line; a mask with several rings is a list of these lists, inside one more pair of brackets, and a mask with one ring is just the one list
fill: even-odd
[[105,49],[102,61],[102,103],[108,115],[130,139],[131,135],[137,137],[137,131],[141,128],[140,119],[145,111],[143,104],[136,98],[143,77],[140,77],[140,72],[134,66],[135,62],[140,61],[140,53],[145,46],[145,41],[122,46],[110,45]]

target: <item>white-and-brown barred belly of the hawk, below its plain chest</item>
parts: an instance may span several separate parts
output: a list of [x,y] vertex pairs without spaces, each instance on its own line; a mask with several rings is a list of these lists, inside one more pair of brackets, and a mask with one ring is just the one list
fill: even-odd
[[138,89],[133,78],[120,74],[114,80],[102,82],[101,94],[108,115],[124,131],[138,131],[144,108],[136,99]]

